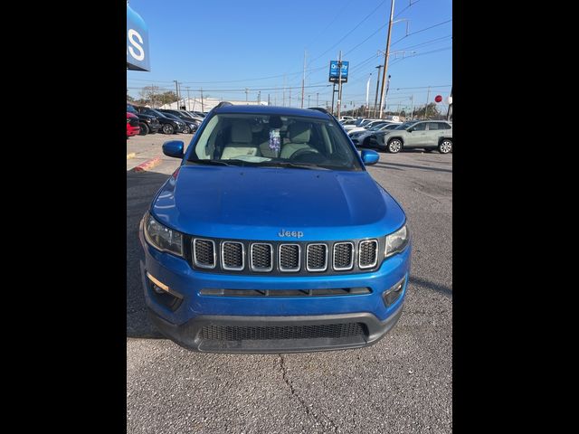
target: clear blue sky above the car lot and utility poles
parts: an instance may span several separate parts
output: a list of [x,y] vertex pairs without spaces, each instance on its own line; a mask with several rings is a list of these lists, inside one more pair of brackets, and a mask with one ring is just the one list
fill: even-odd
[[[128,93],[181,84],[191,98],[261,100],[300,107],[306,52],[304,107],[331,103],[329,61],[349,61],[343,109],[374,103],[384,64],[391,0],[131,0],[148,28],[151,71],[127,71]],[[403,20],[403,21],[399,21]],[[387,110],[410,109],[452,85],[452,1],[396,0]],[[382,51],[381,53],[379,51]],[[372,75],[370,75],[372,74]],[[381,72],[382,79],[382,72]],[[430,95],[428,87],[431,87]],[[309,96],[309,103],[308,103]],[[378,93],[379,98],[379,93]],[[439,104],[446,111],[444,103]]]

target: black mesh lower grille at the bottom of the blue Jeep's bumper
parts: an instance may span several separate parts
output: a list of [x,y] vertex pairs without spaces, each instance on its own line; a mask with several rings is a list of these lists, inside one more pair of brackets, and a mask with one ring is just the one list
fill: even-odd
[[326,325],[233,326],[205,325],[201,337],[210,341],[341,338],[365,335],[361,323]]

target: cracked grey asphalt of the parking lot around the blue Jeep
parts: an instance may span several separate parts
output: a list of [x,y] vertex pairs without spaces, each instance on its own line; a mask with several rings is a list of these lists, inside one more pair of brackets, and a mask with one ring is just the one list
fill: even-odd
[[[161,156],[191,135],[131,137]],[[179,161],[127,172],[129,433],[448,433],[452,430],[452,155],[380,154],[368,168],[403,205],[413,263],[403,316],[377,344],[310,354],[199,354],[148,323],[138,222]]]

